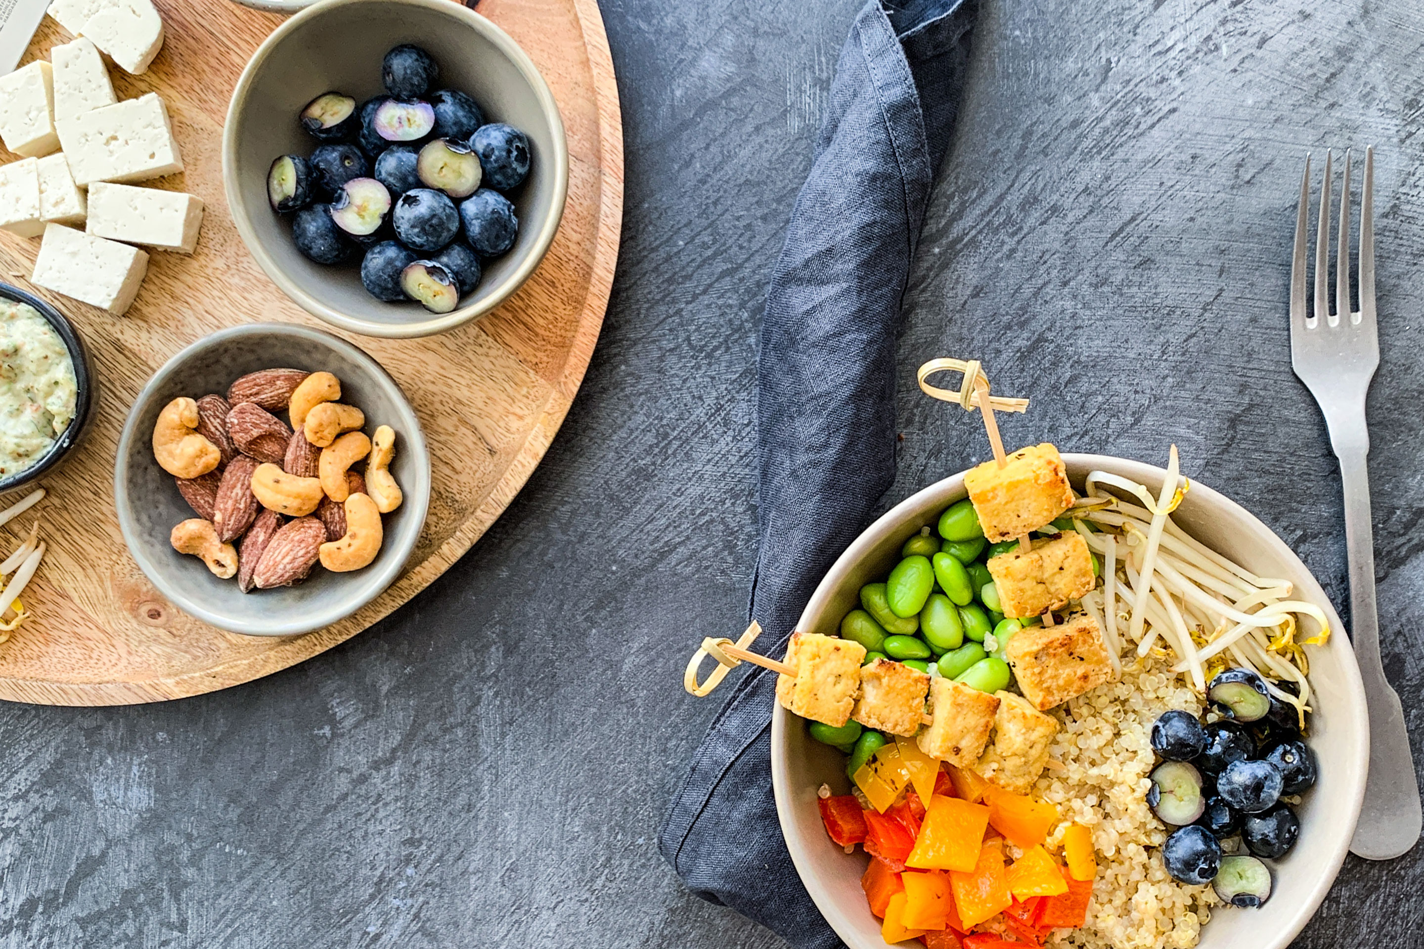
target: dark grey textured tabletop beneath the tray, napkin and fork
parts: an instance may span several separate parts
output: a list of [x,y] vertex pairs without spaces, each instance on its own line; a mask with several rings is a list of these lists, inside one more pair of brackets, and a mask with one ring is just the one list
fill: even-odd
[[[7,706],[0,946],[762,948],[655,834],[739,629],[766,277],[859,0],[608,0],[625,243],[588,381],[524,494],[389,622],[225,693]],[[1337,598],[1339,478],[1287,364],[1306,149],[1378,145],[1374,498],[1387,667],[1424,738],[1424,9],[987,0],[907,297],[901,474],[984,454],[916,393],[983,354],[1011,442],[1149,461],[1253,508]],[[1415,747],[1424,760],[1424,747]],[[1297,946],[1418,945],[1424,851],[1356,859]]]

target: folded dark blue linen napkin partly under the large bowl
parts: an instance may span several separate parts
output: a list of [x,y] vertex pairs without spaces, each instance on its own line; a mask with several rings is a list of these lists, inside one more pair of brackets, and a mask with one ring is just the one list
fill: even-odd
[[[975,0],[870,0],[840,53],[762,320],[756,647],[785,652],[816,583],[894,478],[894,339],[968,61]],[[797,949],[840,945],[772,798],[775,676],[743,666],[674,797],[664,858]]]

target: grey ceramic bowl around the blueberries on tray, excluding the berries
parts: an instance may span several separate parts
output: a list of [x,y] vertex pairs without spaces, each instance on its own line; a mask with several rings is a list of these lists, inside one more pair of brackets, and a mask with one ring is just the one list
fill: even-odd
[[[399,43],[416,43],[440,65],[441,88],[468,92],[488,121],[530,139],[528,179],[508,198],[520,219],[514,248],[484,262],[484,277],[451,313],[383,303],[366,293],[359,265],[322,266],[292,243],[289,222],[268,205],[268,168],[278,155],[309,155],[319,144],[296,121],[330,90],[365,101],[383,94],[380,64]],[[507,33],[450,0],[323,0],[272,31],[238,78],[222,132],[222,179],[244,243],[283,293],[316,317],[367,336],[429,336],[477,319],[524,283],[554,240],[568,192],[568,148],[558,107],[530,57]]]

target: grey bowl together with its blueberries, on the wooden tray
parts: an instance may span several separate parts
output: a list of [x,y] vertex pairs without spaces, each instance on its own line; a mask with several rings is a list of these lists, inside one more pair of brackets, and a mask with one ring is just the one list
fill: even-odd
[[234,222],[269,277],[367,336],[444,333],[504,302],[568,191],[548,85],[449,0],[323,0],[238,80],[222,137]]

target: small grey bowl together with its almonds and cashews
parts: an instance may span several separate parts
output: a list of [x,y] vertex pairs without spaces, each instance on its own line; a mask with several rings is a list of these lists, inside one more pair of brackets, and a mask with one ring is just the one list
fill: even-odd
[[329,626],[404,568],[430,455],[396,381],[330,333],[258,323],[174,356],[138,394],[114,501],[175,606],[249,636]]

